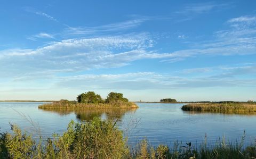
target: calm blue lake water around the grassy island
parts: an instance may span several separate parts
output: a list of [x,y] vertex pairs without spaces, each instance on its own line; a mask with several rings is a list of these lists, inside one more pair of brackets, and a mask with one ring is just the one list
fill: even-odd
[[[246,144],[256,137],[256,115],[211,114],[183,112],[182,104],[138,103],[135,110],[39,110],[42,103],[0,102],[0,131],[10,131],[10,123],[18,124],[36,138],[38,128],[46,138],[52,133],[61,134],[70,120],[90,121],[93,116],[118,120],[119,128],[129,137],[129,143],[147,137],[151,144],[171,144],[174,141],[201,143],[205,134],[214,144],[219,137],[234,141],[246,132]],[[29,120],[33,120],[36,129]]]

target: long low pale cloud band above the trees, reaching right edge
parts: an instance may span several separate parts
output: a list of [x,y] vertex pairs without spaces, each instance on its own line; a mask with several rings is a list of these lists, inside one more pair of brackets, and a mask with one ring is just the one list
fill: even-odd
[[[195,73],[189,78],[186,74],[175,76],[175,73],[159,74],[155,72],[137,72],[124,74],[85,74],[82,76],[69,76],[59,79],[55,87],[90,87],[90,89],[171,89],[171,88],[204,88],[204,87],[247,87],[256,84],[255,66],[221,69],[217,76],[197,77],[196,72],[206,73],[211,68],[195,68],[183,70],[187,73]],[[185,73],[184,72],[184,73]],[[249,79],[239,78],[241,74],[250,74]],[[221,77],[223,74],[232,74],[229,77]],[[75,84],[74,84],[75,83]],[[88,88],[89,89],[89,88]]]

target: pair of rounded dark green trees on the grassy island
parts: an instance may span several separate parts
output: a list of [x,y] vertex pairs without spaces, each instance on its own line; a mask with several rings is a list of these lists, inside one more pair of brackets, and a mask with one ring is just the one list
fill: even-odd
[[78,103],[115,103],[115,102],[129,102],[127,98],[123,97],[122,93],[110,92],[104,100],[100,95],[95,94],[94,91],[87,91],[76,97]]

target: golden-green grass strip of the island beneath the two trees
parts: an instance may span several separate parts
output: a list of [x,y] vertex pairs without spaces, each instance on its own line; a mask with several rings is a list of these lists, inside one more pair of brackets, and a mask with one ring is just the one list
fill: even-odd
[[137,104],[133,102],[123,102],[123,101],[115,101],[110,103],[77,103],[77,102],[69,102],[69,101],[59,101],[53,103],[47,103],[43,105],[39,105],[38,108],[41,109],[107,109],[107,108],[138,108]]

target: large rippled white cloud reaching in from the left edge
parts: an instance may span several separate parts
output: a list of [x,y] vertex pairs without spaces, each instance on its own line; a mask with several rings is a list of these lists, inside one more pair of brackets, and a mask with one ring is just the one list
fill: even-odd
[[147,34],[139,34],[67,39],[37,49],[7,49],[0,51],[0,71],[1,76],[60,69],[82,71],[115,68],[142,58],[169,56],[148,52],[146,49],[152,45]]

